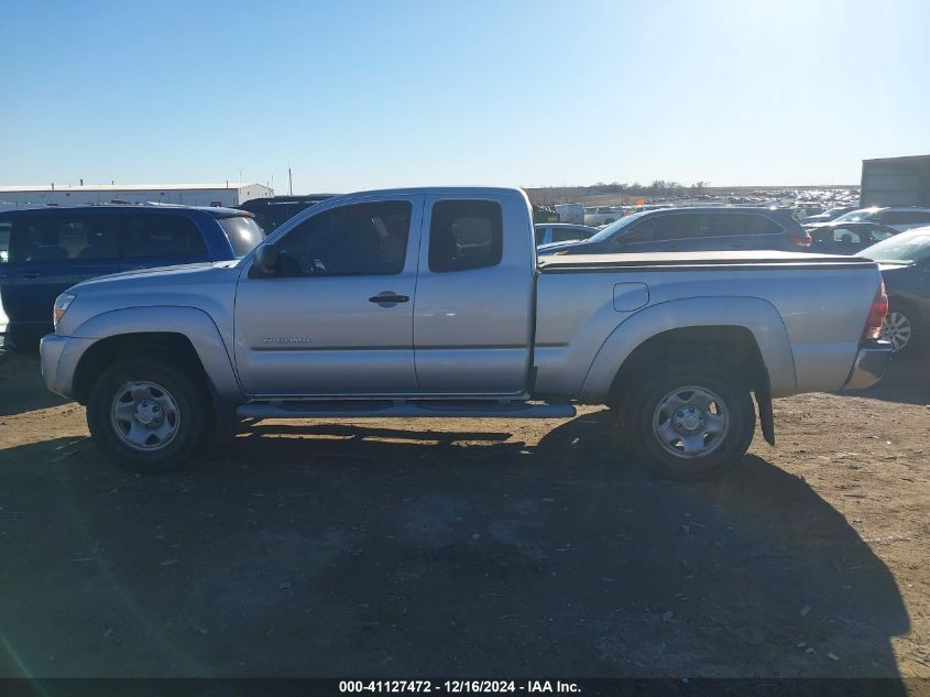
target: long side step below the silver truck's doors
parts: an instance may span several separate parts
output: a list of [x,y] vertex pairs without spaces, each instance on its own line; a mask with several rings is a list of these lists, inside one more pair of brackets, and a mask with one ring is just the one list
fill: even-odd
[[571,404],[530,402],[446,402],[404,400],[250,402],[243,418],[571,418]]

